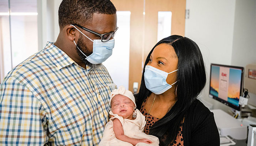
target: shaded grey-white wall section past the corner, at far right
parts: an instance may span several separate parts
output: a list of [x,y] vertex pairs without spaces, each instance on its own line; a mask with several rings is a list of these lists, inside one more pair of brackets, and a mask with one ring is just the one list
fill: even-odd
[[[247,64],[256,64],[255,32],[256,0],[236,0],[231,65],[245,68]],[[249,95],[248,102],[256,106],[256,95],[253,93]]]

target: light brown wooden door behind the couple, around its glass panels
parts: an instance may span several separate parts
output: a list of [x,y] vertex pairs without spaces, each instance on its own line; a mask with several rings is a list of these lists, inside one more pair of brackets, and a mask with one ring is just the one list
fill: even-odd
[[185,33],[185,0],[111,0],[117,11],[130,11],[129,90],[140,82],[144,61],[157,43],[158,11],[172,12],[172,35]]

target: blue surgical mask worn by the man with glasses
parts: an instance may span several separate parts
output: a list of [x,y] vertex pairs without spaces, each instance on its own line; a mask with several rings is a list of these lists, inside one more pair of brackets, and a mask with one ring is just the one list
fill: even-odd
[[[71,25],[74,28],[76,28],[74,25]],[[78,28],[76,28],[80,33],[83,34]],[[86,38],[90,39],[87,37],[85,34],[83,34]],[[78,50],[86,56],[86,60],[89,61],[91,64],[101,64],[102,62],[106,61],[111,55],[112,55],[112,50],[114,48],[115,40],[110,39],[108,42],[101,42],[100,39],[90,39],[90,41],[93,42],[93,53],[89,56],[86,56],[76,45],[75,40],[73,41],[78,48]]]

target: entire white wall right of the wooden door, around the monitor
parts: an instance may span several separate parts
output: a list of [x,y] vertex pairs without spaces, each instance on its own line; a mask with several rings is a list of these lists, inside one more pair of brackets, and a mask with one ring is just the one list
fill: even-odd
[[190,15],[185,21],[185,37],[199,46],[207,72],[207,84],[200,96],[215,109],[228,112],[231,108],[208,97],[210,64],[245,66],[255,62],[255,0],[187,0],[186,9]]

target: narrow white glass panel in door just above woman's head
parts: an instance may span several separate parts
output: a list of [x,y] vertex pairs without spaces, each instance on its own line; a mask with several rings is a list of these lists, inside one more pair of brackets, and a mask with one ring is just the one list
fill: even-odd
[[157,26],[157,42],[163,38],[171,35],[172,28],[172,12],[159,11],[158,12],[158,26]]

